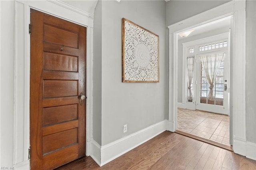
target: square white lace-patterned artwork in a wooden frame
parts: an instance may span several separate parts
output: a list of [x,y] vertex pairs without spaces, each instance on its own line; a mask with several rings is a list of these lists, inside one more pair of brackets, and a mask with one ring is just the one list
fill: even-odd
[[159,82],[159,36],[125,18],[122,82]]

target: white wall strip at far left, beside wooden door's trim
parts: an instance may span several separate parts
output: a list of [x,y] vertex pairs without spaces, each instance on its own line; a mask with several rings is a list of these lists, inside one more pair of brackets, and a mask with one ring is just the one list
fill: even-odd
[[1,166],[13,164],[14,127],[14,2],[1,3]]

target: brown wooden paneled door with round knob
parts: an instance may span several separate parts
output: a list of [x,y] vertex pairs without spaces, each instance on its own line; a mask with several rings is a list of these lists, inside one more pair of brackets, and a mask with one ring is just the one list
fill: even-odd
[[36,10],[30,21],[30,167],[48,170],[85,155],[86,28]]

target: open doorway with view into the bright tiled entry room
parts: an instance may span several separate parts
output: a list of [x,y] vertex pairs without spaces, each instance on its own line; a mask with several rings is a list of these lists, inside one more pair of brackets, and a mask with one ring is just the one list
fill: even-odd
[[187,37],[178,35],[188,30],[176,33],[177,70],[178,77],[182,77],[177,80],[176,132],[230,150],[231,18],[189,28],[193,32]]

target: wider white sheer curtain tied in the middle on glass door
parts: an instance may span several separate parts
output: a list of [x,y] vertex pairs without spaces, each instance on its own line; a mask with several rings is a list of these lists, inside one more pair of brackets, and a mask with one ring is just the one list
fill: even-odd
[[210,84],[210,87],[209,87],[210,91],[207,97],[208,100],[215,99],[215,94],[213,93],[213,88],[214,88],[213,83],[218,74],[223,56],[224,56],[224,53],[205,55],[201,57],[201,63],[203,65],[208,83]]

